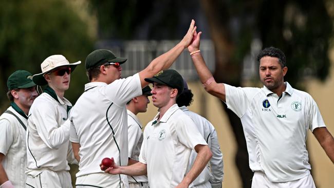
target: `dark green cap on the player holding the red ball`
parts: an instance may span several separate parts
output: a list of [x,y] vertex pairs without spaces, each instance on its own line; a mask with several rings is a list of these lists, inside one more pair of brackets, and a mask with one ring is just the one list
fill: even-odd
[[146,82],[149,83],[159,83],[162,85],[170,86],[178,90],[178,95],[183,91],[183,78],[176,70],[168,69],[161,70],[155,74],[152,78],[145,78]]

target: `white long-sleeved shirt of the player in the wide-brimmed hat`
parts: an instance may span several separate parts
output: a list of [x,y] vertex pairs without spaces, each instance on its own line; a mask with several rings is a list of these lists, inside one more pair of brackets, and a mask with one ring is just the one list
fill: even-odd
[[57,99],[59,102],[43,92],[30,107],[26,134],[28,176],[35,177],[46,169],[69,171],[68,162],[74,160],[69,143],[70,122],[66,121],[67,106],[72,105],[65,98]]

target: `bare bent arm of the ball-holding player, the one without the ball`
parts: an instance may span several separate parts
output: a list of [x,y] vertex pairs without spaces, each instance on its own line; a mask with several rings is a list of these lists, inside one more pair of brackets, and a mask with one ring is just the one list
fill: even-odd
[[187,175],[184,176],[181,183],[176,186],[176,188],[189,187],[189,184],[193,182],[203,171],[204,167],[208,164],[210,158],[212,157],[212,153],[208,145],[198,144],[195,146],[195,151],[197,152],[197,157],[193,166]]

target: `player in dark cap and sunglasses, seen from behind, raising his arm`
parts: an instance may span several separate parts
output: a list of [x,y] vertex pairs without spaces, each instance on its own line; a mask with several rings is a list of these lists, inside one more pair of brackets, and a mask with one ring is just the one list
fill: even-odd
[[191,43],[195,30],[195,21],[192,21],[187,34],[176,46],[125,79],[121,79],[121,64],[125,63],[125,58],[118,58],[106,49],[88,54],[85,67],[90,82],[69,117],[70,141],[80,160],[77,187],[128,187],[127,176],[106,174],[99,164],[109,156],[114,156],[118,165],[128,163],[126,103],[142,95],[141,89],[149,84],[145,78],[172,65]]

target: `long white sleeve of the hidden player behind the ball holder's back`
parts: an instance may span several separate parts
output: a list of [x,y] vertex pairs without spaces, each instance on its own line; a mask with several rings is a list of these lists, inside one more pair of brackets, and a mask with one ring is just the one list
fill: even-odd
[[210,159],[210,168],[212,173],[212,178],[210,179],[211,184],[220,184],[224,179],[224,163],[222,160],[222,153],[220,151],[220,146],[217,138],[217,132],[213,125],[208,122],[211,134],[210,134],[210,140],[211,140],[211,152],[212,157]]

